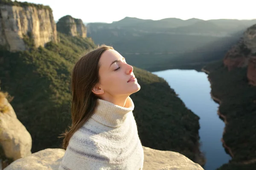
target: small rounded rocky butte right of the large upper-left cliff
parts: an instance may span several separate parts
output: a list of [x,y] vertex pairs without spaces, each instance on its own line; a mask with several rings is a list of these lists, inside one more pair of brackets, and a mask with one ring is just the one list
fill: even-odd
[[73,37],[86,37],[87,29],[81,19],[76,19],[70,15],[64,16],[58,20],[57,30],[61,33],[71,35]]

